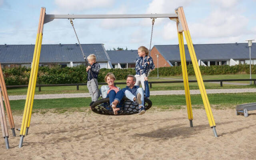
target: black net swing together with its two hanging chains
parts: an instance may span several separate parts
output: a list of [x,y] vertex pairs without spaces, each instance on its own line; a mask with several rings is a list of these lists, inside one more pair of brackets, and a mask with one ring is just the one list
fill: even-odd
[[[155,18],[152,18],[152,28],[151,28],[151,38],[150,38],[150,48],[151,48],[151,42],[152,42],[152,33],[153,33],[153,26],[154,26],[154,21]],[[74,28],[74,24],[72,19],[70,19],[70,23],[74,29],[74,32],[76,34],[76,30]],[[76,38],[78,40],[79,46],[80,46],[80,50],[82,52],[82,56],[86,62],[86,65],[88,66],[88,62],[86,60],[86,57],[84,55],[84,51],[82,49],[82,46],[80,44],[80,41],[78,39],[78,36],[76,34]],[[149,55],[150,55],[150,50],[149,50]],[[92,72],[90,72],[92,73]],[[147,68],[147,73],[146,75],[148,76],[148,68]],[[95,80],[94,80],[95,81]],[[96,82],[95,82],[96,83]],[[98,84],[96,83],[97,88],[98,88]],[[110,106],[110,102],[109,102],[109,98],[102,98],[100,100],[97,100],[96,102],[91,104],[91,110],[97,114],[103,114],[103,115],[114,115],[114,116],[121,116],[121,115],[131,115],[131,114],[137,114],[139,112],[139,106],[136,102],[132,102],[131,100],[129,100],[128,98],[126,98],[126,96],[124,96],[124,98],[121,100],[122,105],[120,106],[116,106],[117,108],[120,108],[120,110],[118,111],[117,115],[114,115],[114,112]],[[148,98],[144,98],[144,107],[145,110],[148,110],[150,107],[152,106],[152,102],[148,99]]]

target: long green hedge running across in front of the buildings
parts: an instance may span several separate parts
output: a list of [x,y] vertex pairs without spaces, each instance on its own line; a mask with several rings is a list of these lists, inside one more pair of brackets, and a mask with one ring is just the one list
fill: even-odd
[[[159,76],[182,75],[181,66],[158,68]],[[194,75],[192,65],[187,66],[188,75]],[[201,74],[249,74],[250,66],[248,64],[236,66],[200,66]],[[13,67],[4,68],[4,80],[6,85],[23,85],[28,84],[30,77],[30,68]],[[124,80],[128,74],[135,74],[135,70],[128,69],[106,69],[102,68],[98,75],[98,82],[104,82],[104,77],[108,72],[114,73],[116,80]],[[252,74],[256,74],[256,65],[252,65]],[[150,76],[157,76],[157,69],[150,72]],[[87,73],[86,66],[76,67],[39,67],[37,84],[72,84],[86,83]]]

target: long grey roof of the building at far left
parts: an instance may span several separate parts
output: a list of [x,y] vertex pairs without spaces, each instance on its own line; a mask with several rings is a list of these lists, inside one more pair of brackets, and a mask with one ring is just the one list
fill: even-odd
[[[31,63],[35,45],[0,45],[0,63]],[[97,62],[107,62],[103,44],[81,44],[84,55],[95,54]],[[43,44],[40,63],[84,62],[78,44]]]

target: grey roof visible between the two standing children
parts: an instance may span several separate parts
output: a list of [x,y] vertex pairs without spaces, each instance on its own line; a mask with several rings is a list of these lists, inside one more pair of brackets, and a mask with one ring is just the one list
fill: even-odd
[[138,50],[107,50],[110,62],[118,63],[135,63],[138,58]]

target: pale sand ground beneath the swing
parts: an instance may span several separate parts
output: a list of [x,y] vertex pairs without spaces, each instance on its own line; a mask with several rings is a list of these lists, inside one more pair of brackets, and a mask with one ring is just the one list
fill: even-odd
[[[1,160],[250,160],[256,159],[256,112],[212,109],[218,138],[206,112],[148,110],[143,115],[103,116],[86,112],[32,114],[28,135],[18,148],[9,130],[10,149],[0,141]],[[250,114],[252,113],[252,114]],[[14,115],[20,128],[22,115]]]

